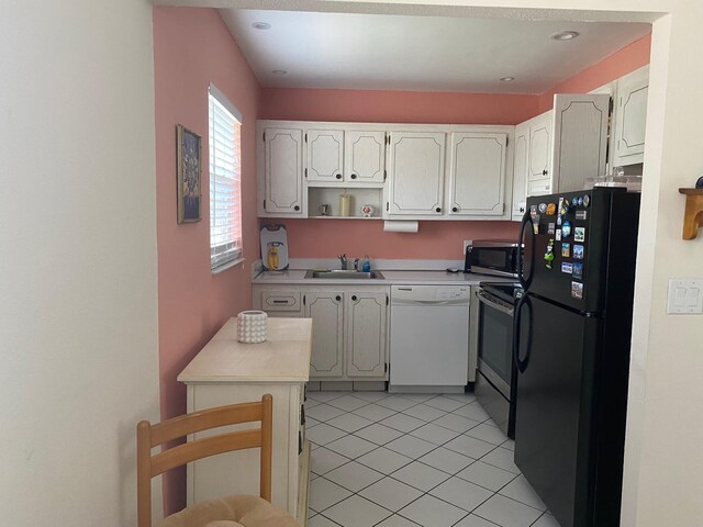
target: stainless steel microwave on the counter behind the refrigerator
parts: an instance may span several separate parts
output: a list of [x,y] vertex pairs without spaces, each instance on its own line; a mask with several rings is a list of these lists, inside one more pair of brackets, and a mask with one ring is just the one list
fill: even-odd
[[517,278],[522,245],[504,239],[477,239],[466,248],[465,272]]

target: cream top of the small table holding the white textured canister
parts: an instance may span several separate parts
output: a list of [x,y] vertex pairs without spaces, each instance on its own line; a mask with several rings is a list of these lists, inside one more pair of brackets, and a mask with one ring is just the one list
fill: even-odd
[[237,340],[230,318],[178,375],[180,382],[305,382],[310,374],[311,318],[268,318],[267,339]]

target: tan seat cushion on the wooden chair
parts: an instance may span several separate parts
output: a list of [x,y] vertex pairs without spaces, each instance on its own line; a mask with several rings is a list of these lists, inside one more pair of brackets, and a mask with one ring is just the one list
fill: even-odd
[[164,518],[158,527],[299,527],[293,517],[259,496],[198,503]]

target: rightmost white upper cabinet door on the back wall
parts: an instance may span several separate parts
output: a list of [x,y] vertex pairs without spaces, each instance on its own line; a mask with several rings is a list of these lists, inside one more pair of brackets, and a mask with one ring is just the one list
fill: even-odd
[[451,134],[448,214],[500,216],[505,212],[507,134]]

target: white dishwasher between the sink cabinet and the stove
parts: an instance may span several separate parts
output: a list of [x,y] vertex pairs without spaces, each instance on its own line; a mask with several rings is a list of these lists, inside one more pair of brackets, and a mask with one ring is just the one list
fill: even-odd
[[391,392],[464,392],[469,362],[468,285],[391,288]]

